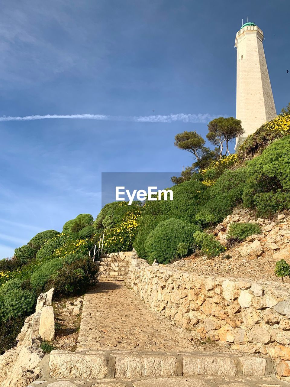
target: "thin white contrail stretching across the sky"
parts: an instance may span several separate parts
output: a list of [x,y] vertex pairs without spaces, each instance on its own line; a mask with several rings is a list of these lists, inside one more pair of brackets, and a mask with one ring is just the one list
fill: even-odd
[[33,121],[33,120],[48,120],[51,118],[68,118],[68,119],[81,119],[81,120],[97,120],[97,121],[126,121],[126,122],[190,122],[190,123],[208,123],[217,117],[227,117],[226,115],[210,115],[209,113],[204,114],[169,114],[169,115],[151,115],[151,116],[110,116],[104,114],[46,114],[46,115],[33,115],[33,116],[2,116],[0,122],[5,121]]

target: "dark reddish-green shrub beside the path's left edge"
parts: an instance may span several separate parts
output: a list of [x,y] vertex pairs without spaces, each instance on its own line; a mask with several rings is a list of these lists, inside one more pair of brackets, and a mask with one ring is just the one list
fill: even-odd
[[97,281],[98,265],[89,257],[64,263],[62,269],[49,281],[58,294],[78,294]]

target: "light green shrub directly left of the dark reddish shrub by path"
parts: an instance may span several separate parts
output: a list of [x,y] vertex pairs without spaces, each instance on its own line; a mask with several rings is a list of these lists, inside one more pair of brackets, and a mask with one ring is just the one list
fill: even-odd
[[63,260],[60,258],[52,259],[39,267],[31,276],[31,286],[36,290],[36,293],[41,293],[45,289],[45,285],[49,279],[61,269]]

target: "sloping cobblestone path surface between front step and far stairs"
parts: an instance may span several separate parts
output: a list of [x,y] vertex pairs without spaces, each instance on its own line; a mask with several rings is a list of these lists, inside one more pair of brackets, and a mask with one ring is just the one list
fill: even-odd
[[84,298],[77,350],[193,351],[192,334],[150,310],[122,283],[99,282]]

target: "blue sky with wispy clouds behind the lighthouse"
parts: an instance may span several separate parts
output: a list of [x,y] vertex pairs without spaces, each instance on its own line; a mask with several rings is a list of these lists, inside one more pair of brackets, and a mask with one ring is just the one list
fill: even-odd
[[290,102],[289,12],[288,0],[3,2],[0,116],[110,117],[0,122],[0,257],[79,213],[96,217],[102,172],[191,164],[174,135],[205,136],[210,117],[235,116],[234,39],[247,16],[264,31],[279,112]]

